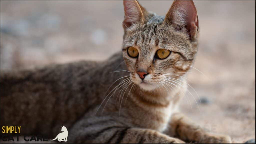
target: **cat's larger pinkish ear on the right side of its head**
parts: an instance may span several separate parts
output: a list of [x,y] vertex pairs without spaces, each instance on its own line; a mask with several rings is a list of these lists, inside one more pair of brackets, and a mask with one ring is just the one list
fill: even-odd
[[195,38],[199,23],[194,2],[174,1],[166,14],[164,23],[174,24],[178,29],[186,28],[191,38]]

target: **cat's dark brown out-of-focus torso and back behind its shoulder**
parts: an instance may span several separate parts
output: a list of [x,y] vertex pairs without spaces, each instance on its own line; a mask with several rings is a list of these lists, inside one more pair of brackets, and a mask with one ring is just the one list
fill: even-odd
[[1,125],[22,126],[23,134],[56,135],[58,127],[70,128],[102,101],[109,86],[103,83],[112,83],[107,76],[122,60],[118,53],[105,61],[1,71]]

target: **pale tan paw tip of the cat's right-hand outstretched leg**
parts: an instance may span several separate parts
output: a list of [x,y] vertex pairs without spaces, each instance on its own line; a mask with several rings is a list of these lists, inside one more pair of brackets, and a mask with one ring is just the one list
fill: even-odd
[[232,143],[231,138],[225,135],[206,134],[200,143]]

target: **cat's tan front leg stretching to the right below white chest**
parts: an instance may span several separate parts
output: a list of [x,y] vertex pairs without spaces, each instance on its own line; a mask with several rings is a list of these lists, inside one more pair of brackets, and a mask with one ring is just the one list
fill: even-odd
[[167,135],[177,137],[187,142],[196,143],[232,143],[231,138],[206,132],[186,116],[175,113],[172,115]]

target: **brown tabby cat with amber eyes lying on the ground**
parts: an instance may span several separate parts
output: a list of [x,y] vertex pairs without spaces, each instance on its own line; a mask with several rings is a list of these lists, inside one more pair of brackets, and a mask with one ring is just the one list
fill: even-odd
[[1,126],[54,137],[65,125],[72,143],[231,143],[178,111],[197,53],[194,2],[166,16],[123,4],[122,52],[108,60],[1,71]]

